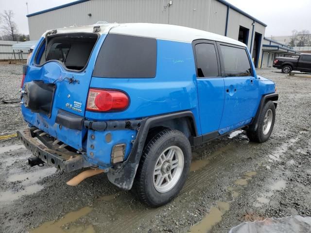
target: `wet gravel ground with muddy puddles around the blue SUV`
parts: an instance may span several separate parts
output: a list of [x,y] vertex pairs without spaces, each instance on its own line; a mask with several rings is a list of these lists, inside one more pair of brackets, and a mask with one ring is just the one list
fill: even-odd
[[[258,73],[279,93],[271,138],[251,143],[237,131],[193,148],[181,194],[156,209],[105,174],[70,187],[78,172],[29,167],[29,151],[16,139],[1,140],[0,232],[227,233],[243,221],[311,216],[311,79],[276,69]],[[0,65],[0,100],[19,97],[20,79],[21,66]],[[0,135],[25,126],[19,104],[0,103],[0,113]]]

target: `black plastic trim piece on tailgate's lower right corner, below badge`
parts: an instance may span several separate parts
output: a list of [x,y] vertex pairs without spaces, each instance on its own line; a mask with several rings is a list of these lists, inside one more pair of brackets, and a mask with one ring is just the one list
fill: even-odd
[[71,130],[82,130],[83,122],[83,116],[77,116],[62,109],[58,110],[55,119],[55,123],[65,126],[66,128]]

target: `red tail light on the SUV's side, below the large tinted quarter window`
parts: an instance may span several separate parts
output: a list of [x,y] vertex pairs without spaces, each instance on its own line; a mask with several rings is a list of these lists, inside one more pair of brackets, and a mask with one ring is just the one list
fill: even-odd
[[128,96],[118,90],[93,89],[88,91],[86,110],[89,111],[121,111],[128,107]]

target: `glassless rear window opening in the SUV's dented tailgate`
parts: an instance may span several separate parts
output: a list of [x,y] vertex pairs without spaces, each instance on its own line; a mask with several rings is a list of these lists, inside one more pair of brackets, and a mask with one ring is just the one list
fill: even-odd
[[[60,34],[46,38],[37,65],[48,61],[58,61],[67,69],[80,71],[86,67],[98,35],[94,33]],[[46,42],[45,41],[45,42]],[[42,54],[43,52],[43,54]]]

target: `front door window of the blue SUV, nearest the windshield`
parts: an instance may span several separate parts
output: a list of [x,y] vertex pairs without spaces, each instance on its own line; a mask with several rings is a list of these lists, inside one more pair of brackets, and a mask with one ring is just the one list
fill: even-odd
[[221,45],[226,77],[250,76],[252,68],[245,49]]

